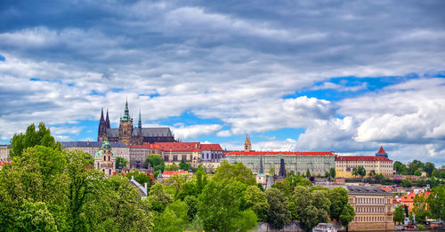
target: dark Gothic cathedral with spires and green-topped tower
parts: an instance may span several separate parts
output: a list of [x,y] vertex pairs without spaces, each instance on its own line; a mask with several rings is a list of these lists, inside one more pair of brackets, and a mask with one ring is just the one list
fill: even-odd
[[120,117],[119,128],[110,128],[109,112],[107,110],[106,119],[103,118],[103,108],[101,110],[101,121],[99,122],[99,132],[97,141],[122,142],[125,145],[142,145],[143,143],[155,142],[175,142],[174,135],[168,127],[142,128],[141,112],[137,127],[133,126],[133,117],[128,110],[128,102],[125,102],[124,116]]

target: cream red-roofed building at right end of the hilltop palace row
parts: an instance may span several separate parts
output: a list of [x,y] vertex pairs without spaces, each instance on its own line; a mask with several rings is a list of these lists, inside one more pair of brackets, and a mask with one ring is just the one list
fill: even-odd
[[374,171],[376,174],[392,176],[392,160],[384,156],[336,156],[336,178],[352,178],[352,172],[363,166],[367,175]]

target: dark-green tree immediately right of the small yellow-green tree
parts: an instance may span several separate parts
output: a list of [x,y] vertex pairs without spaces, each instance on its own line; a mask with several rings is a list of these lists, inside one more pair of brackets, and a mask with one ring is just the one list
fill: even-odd
[[267,212],[267,222],[273,227],[282,229],[290,222],[291,214],[287,209],[287,198],[278,188],[266,190],[267,203],[270,208]]

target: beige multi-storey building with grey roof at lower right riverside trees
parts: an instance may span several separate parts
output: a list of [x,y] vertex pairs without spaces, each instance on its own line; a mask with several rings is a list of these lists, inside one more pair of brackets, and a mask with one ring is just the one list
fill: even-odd
[[374,186],[346,186],[355,211],[349,231],[392,231],[392,193]]

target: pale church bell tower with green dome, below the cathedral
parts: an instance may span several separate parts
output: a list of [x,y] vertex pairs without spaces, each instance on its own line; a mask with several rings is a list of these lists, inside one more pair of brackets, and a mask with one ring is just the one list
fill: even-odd
[[94,155],[94,167],[101,170],[106,177],[110,177],[116,172],[116,156],[111,151],[109,140],[102,142],[101,149]]

